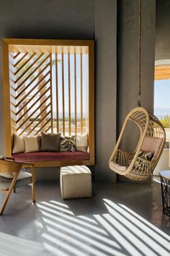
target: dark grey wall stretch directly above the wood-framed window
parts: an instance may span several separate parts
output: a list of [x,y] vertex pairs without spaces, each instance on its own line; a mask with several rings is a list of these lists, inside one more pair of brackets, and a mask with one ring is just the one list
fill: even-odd
[[94,1],[0,1],[0,38],[94,39]]

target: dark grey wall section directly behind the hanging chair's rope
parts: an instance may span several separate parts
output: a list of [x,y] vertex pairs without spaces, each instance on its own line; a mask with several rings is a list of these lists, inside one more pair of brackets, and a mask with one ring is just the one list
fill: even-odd
[[[120,0],[117,21],[117,121],[118,133],[128,112],[138,102],[138,1]],[[155,0],[142,1],[141,103],[153,111],[153,70],[155,48]],[[123,148],[135,144],[134,129],[128,130]]]

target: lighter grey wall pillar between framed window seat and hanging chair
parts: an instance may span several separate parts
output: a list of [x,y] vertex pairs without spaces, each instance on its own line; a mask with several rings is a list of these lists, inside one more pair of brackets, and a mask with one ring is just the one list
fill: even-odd
[[117,1],[100,0],[95,5],[96,38],[96,161],[99,180],[115,182],[109,157],[116,142],[117,104]]

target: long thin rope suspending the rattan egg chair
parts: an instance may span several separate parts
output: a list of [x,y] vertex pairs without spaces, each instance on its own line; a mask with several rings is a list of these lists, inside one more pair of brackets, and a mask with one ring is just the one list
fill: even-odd
[[141,0],[139,0],[139,25],[138,25],[138,106],[141,106]]

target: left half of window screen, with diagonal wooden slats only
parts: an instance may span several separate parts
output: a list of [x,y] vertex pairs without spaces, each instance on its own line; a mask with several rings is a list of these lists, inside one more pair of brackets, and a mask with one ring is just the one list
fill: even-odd
[[9,77],[14,131],[53,132],[51,54],[10,54]]

